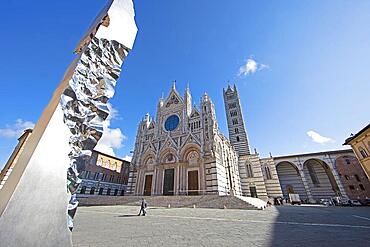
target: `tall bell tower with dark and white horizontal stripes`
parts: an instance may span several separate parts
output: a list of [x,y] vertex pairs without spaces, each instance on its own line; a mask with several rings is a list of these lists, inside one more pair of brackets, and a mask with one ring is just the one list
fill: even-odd
[[243,120],[243,112],[240,105],[240,98],[236,86],[223,90],[227,127],[231,145],[238,152],[239,156],[250,155],[247,131]]

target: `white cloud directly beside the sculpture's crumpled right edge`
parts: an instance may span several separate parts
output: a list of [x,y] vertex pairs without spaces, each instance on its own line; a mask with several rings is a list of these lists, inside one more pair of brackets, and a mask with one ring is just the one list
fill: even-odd
[[123,147],[123,141],[127,138],[119,128],[109,128],[111,120],[118,116],[118,111],[114,109],[111,104],[108,104],[108,108],[110,110],[110,114],[107,120],[103,123],[103,136],[99,140],[98,145],[96,145],[95,150],[116,156],[114,149]]

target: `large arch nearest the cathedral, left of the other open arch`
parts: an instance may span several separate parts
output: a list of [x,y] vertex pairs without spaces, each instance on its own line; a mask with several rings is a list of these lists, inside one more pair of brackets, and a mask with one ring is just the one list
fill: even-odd
[[282,161],[276,165],[276,171],[284,197],[288,197],[289,193],[296,193],[299,194],[300,199],[307,199],[302,178],[294,164]]

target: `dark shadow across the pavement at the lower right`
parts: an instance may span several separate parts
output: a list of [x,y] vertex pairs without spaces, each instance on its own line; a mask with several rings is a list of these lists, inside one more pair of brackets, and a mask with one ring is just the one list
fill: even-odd
[[[269,246],[370,246],[365,208],[276,206]],[[361,225],[364,226],[361,228]]]

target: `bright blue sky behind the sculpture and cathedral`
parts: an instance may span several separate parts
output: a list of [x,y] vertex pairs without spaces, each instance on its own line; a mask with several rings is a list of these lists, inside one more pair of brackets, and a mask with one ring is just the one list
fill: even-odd
[[[105,3],[2,3],[0,167],[22,128],[37,122]],[[173,80],[181,93],[189,83],[197,103],[208,92],[225,134],[222,88],[235,83],[262,156],[343,148],[369,122],[369,1],[141,0],[135,7],[139,32],[110,101],[110,135],[121,139],[105,140],[119,157],[129,155],[137,123],[155,114]]]

